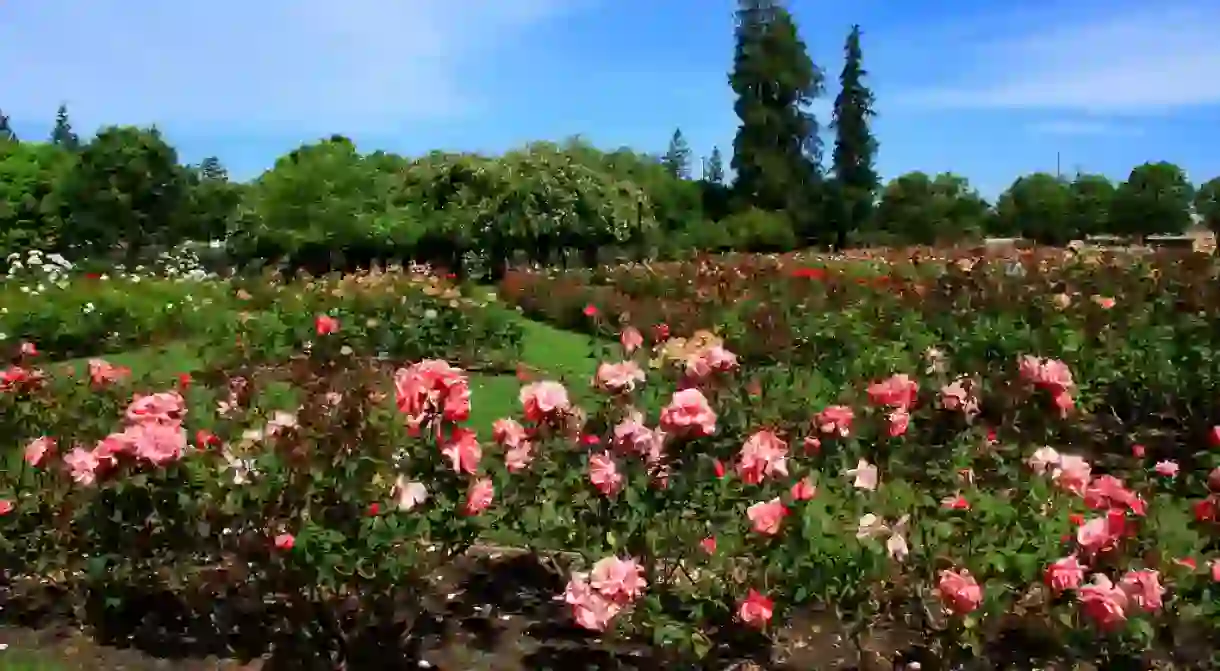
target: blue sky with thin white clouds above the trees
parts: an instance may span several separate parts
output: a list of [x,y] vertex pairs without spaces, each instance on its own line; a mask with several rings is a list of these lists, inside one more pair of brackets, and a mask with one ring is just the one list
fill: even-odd
[[[582,134],[728,149],[732,0],[0,0],[0,110],[45,137],[156,123],[251,177],[303,142],[499,151]],[[1220,0],[791,0],[832,79],[864,29],[878,167],[1220,174]]]

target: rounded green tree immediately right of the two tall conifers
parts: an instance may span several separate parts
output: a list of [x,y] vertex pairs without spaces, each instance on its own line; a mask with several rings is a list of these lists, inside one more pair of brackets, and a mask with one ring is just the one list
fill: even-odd
[[977,237],[987,215],[987,203],[966,178],[948,172],[897,177],[886,184],[877,206],[880,229],[914,244]]

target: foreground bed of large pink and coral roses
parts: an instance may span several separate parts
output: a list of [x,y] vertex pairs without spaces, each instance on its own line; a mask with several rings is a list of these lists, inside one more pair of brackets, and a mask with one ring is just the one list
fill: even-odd
[[1210,655],[1214,410],[1104,417],[1105,382],[969,348],[810,387],[712,338],[649,351],[627,329],[597,404],[532,382],[479,437],[461,370],[370,366],[316,326],[287,365],[216,361],[176,388],[101,362],[5,372],[6,616],[411,658],[396,645],[447,612],[437,572],[493,538],[558,572],[536,634],[558,617],[667,664],[808,669],[826,621],[903,662]]

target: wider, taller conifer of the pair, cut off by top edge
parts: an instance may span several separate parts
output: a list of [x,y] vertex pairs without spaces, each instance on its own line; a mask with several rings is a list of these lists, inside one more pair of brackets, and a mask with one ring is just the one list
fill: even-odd
[[[733,190],[742,205],[803,217],[820,200],[822,146],[809,105],[825,76],[778,0],[738,0],[736,37]],[[799,223],[808,233],[811,222]]]

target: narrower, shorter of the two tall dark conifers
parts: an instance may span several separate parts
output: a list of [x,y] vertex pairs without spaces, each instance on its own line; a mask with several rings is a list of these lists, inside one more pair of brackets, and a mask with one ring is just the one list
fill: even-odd
[[869,129],[876,116],[872,92],[864,85],[867,72],[860,50],[860,27],[853,26],[843,46],[845,60],[834,99],[834,244],[847,245],[848,232],[865,226],[872,216],[880,179],[874,167],[877,140]]

